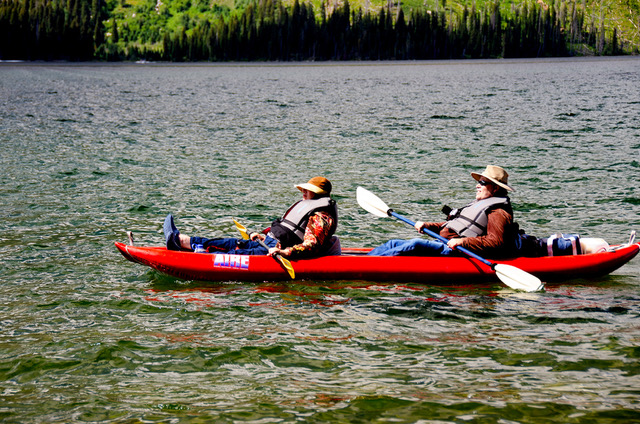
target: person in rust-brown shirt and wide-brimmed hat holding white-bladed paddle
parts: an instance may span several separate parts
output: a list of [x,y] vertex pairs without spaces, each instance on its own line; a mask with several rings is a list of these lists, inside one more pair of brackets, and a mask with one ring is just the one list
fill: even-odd
[[512,238],[517,228],[508,192],[509,174],[499,166],[489,165],[482,173],[472,172],[476,180],[476,199],[459,209],[443,208],[444,222],[416,222],[416,230],[423,228],[439,233],[448,243],[438,240],[389,240],[373,249],[374,256],[438,256],[451,255],[458,246],[487,257],[505,257],[512,253]]

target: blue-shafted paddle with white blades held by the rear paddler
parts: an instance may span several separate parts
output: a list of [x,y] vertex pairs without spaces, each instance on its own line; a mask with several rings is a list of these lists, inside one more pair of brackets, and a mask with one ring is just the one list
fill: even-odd
[[[393,216],[400,221],[403,221],[411,226],[415,226],[415,222],[394,212],[393,209],[389,208],[382,200],[380,200],[378,196],[371,193],[369,190],[358,187],[356,190],[356,199],[358,200],[358,204],[362,206],[364,210],[372,213],[373,215],[382,218]],[[426,228],[423,228],[422,231],[425,234],[435,237],[443,243],[447,243],[448,241],[440,234],[434,233],[433,231],[427,230]],[[495,271],[498,278],[512,289],[532,292],[541,290],[544,287],[544,284],[538,277],[536,277],[535,275],[531,275],[528,272],[521,270],[520,268],[516,268],[514,266],[506,264],[496,264],[489,262],[488,260],[471,252],[470,250],[465,249],[464,247],[458,246],[456,249],[490,267]]]

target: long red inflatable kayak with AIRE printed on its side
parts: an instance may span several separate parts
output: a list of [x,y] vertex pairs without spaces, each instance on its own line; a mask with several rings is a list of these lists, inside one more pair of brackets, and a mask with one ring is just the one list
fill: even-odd
[[[116,242],[125,258],[183,280],[285,281],[287,271],[268,256],[176,252]],[[371,249],[344,248],[341,256],[291,261],[297,280],[413,281],[475,283],[497,280],[496,273],[468,257],[367,256]],[[544,256],[495,261],[529,272],[543,281],[609,274],[633,259],[640,243],[575,256]]]

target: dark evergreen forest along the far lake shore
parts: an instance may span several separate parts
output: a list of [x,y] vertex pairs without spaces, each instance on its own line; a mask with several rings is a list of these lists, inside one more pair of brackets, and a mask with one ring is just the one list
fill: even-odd
[[[0,0],[0,60],[343,61],[530,58],[637,54],[617,28],[585,18],[584,2],[525,0],[508,13],[483,7],[377,11],[348,0],[319,10],[310,2],[253,0],[234,11],[201,4],[198,19],[143,1]],[[475,4],[475,3],[474,3]],[[189,7],[193,4],[188,3]],[[217,9],[216,9],[217,8]],[[216,13],[217,12],[217,13]]]

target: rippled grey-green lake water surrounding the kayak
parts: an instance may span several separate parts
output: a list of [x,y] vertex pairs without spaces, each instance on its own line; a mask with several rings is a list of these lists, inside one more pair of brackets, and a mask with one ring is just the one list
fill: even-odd
[[640,227],[640,59],[0,64],[0,421],[640,422],[640,260],[535,294],[201,283],[113,246],[262,228],[334,184],[343,246],[505,167],[527,232]]

